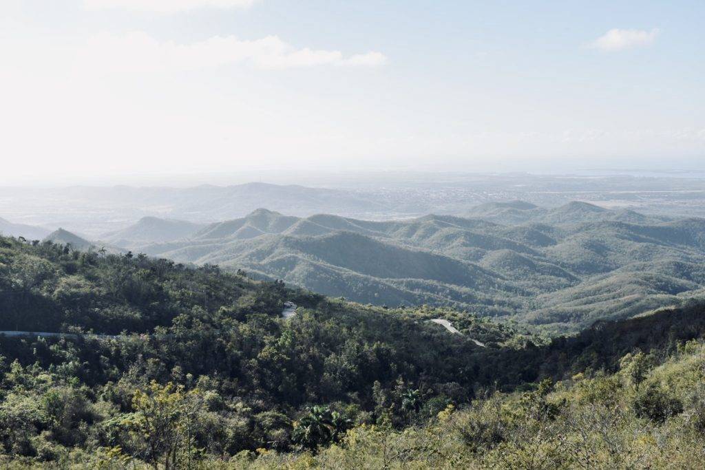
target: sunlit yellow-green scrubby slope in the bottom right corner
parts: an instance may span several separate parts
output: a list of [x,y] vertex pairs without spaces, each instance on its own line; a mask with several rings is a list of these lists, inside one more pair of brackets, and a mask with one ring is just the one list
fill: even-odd
[[399,430],[356,426],[317,454],[240,454],[234,468],[701,469],[705,347],[635,352],[613,375],[578,373],[526,392],[488,390]]

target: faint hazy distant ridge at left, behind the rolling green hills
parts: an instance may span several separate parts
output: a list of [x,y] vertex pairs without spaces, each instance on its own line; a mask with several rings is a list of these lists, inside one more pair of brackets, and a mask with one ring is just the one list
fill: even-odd
[[[0,187],[0,214],[7,218],[22,217],[28,223],[78,230],[90,237],[116,233],[140,218],[147,218],[147,223],[149,218],[212,223],[246,216],[259,207],[297,216],[336,211],[351,216],[379,217],[392,211],[374,197],[353,191],[269,183],[195,187]],[[6,235],[14,233],[8,231]],[[44,235],[47,233],[49,231]]]

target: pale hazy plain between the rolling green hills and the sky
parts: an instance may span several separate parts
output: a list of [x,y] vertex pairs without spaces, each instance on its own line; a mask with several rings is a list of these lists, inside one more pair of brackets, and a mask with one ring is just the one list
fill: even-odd
[[[334,214],[365,220],[427,214],[466,216],[479,204],[522,200],[545,207],[572,201],[643,214],[705,216],[705,175],[697,171],[532,173],[262,172],[277,183],[185,187],[0,187],[0,217],[90,237],[145,216],[213,223],[266,208],[291,216]],[[243,178],[240,176],[238,178]],[[236,178],[237,179],[237,178]],[[302,185],[298,179],[306,180]],[[12,233],[5,230],[4,233]]]

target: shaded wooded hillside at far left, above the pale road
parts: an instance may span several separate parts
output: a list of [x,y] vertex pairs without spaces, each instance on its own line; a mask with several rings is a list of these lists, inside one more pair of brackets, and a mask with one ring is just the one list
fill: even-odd
[[269,314],[281,309],[279,285],[259,286],[212,266],[187,268],[145,255],[0,238],[2,330],[145,333],[196,309],[205,314],[222,306]]

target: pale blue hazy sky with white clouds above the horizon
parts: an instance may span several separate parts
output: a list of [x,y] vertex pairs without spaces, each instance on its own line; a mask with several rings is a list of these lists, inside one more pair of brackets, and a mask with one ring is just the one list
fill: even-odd
[[0,184],[705,167],[705,2],[0,0]]

